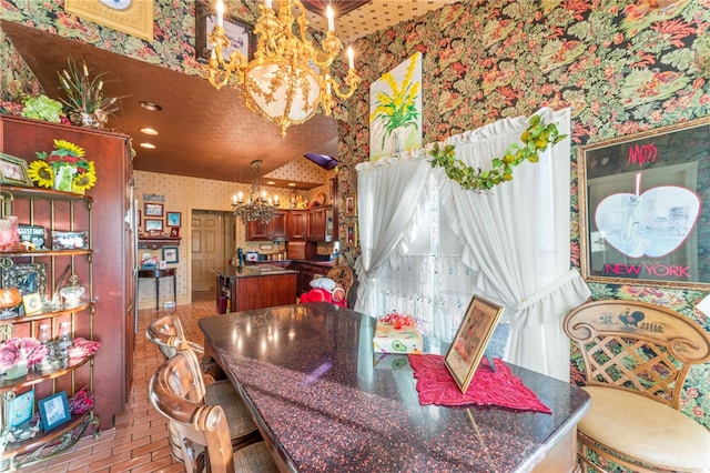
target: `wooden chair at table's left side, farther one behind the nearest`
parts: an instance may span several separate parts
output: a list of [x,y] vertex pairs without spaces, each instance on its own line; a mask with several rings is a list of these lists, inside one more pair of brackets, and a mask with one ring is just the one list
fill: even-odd
[[[201,344],[189,342],[185,339],[184,330],[178,315],[166,314],[153,320],[145,330],[145,336],[158,345],[165,360],[186,350],[193,354],[195,361],[187,366],[193,371],[192,379],[195,383],[195,395],[200,402],[222,406],[226,415],[233,447],[239,449],[261,440],[256,424],[232,382],[230,380],[214,381],[212,376],[206,376],[210,382],[204,382],[204,368],[200,365],[195,354],[204,354],[204,349]],[[180,446],[176,445],[178,439],[174,436],[174,429],[172,425],[169,427],[173,456],[182,460]]]

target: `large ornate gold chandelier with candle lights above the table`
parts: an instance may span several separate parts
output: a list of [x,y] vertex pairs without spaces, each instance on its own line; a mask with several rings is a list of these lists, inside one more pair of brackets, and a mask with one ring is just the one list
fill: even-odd
[[[293,12],[294,7],[297,16]],[[260,8],[261,17],[254,27],[254,33],[258,34],[254,59],[250,62],[240,51],[224,58],[223,51],[227,50],[230,41],[224,32],[224,4],[217,0],[217,24],[210,33],[212,54],[206,73],[210,83],[217,89],[234,79],[235,84],[241,85],[246,107],[274,122],[285,137],[288,127],[311,119],[318,105],[329,115],[335,105],[333,92],[347,99],[361,79],[355,72],[349,47],[348,71],[343,81],[347,89],[341,89],[331,76],[331,64],[343,49],[343,42],[334,32],[331,6],[327,7],[328,31],[321,49],[306,38],[308,21],[300,0],[281,0],[278,14],[272,9],[272,0],[264,0]]]

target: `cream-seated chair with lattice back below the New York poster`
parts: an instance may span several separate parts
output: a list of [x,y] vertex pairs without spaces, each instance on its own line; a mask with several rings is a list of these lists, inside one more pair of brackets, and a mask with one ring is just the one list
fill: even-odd
[[679,410],[688,371],[710,361],[700,324],[659,305],[602,300],[569,312],[564,329],[591,396],[578,424],[584,472],[710,471],[710,432]]

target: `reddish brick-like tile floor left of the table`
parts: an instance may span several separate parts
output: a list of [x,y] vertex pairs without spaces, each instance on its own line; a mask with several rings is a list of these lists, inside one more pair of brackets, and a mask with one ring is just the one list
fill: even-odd
[[[162,310],[160,311],[162,313]],[[193,293],[191,305],[179,305],[180,316],[190,340],[203,343],[197,320],[215,313],[214,292]],[[145,329],[159,311],[139,311],[135,334],[133,385],[125,412],[119,414],[115,427],[101,432],[99,439],[89,435],[69,452],[47,462],[21,469],[21,472],[52,473],[173,473],[184,471],[182,463],[170,455],[166,420],[148,400],[148,383],[163,359],[155,345],[145,339]]]

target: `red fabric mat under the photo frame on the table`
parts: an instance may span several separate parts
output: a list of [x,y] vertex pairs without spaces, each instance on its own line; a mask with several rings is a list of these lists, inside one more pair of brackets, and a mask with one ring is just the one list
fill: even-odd
[[474,379],[466,393],[456,384],[454,376],[444,364],[444,356],[437,354],[410,354],[409,364],[417,379],[419,404],[436,405],[499,405],[519,411],[551,413],[523,381],[510,372],[500,359],[494,359],[496,371],[488,360],[480,360]]

